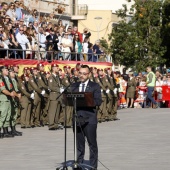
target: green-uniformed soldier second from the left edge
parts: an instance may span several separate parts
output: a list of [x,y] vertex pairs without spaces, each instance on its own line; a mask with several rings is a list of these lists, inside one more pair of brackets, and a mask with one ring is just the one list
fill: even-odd
[[11,118],[10,118],[11,133],[14,136],[22,136],[21,132],[16,131],[16,119],[18,115],[19,99],[21,99],[21,93],[18,89],[18,83],[16,81],[16,74],[13,68],[9,69],[9,81],[12,85],[12,90],[15,94],[15,98],[11,100]]

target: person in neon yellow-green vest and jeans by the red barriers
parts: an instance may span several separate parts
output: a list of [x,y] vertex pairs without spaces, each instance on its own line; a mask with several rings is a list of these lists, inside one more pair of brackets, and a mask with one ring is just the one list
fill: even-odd
[[153,104],[153,108],[156,109],[158,108],[158,104],[157,102],[154,100],[154,98],[152,97],[152,94],[154,92],[154,87],[155,87],[155,82],[156,82],[156,76],[155,74],[153,73],[152,71],[152,68],[150,66],[148,66],[146,68],[146,71],[147,71],[147,81],[146,81],[146,84],[147,84],[147,89],[148,89],[148,99],[149,99],[149,102],[148,102],[148,105],[147,107],[151,107],[151,102]]

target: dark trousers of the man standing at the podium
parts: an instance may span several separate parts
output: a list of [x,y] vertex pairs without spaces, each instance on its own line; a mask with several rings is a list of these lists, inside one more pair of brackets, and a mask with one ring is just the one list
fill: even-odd
[[[81,130],[82,129],[82,130]],[[85,137],[90,149],[90,166],[97,169],[98,146],[97,146],[97,124],[84,124],[77,126],[77,160],[83,163],[85,155]]]

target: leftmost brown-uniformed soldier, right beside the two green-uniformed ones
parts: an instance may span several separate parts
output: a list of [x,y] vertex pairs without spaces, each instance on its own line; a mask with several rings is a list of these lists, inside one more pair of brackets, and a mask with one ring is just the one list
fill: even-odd
[[29,75],[22,75],[21,80],[21,128],[31,128],[31,111],[34,100],[34,92],[28,83]]

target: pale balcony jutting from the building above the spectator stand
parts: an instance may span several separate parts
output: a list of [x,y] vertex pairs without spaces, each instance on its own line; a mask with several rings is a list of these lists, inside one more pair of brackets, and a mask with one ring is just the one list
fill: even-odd
[[72,20],[85,20],[88,14],[88,6],[86,4],[79,4],[72,6]]

